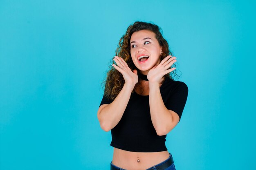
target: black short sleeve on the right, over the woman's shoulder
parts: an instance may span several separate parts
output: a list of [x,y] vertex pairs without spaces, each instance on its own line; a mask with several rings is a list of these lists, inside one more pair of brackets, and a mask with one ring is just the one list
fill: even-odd
[[165,104],[166,108],[168,110],[174,111],[181,118],[188,97],[188,93],[189,88],[184,82],[180,82],[179,84],[177,84],[177,86],[175,86],[175,89],[167,99],[167,102]]

